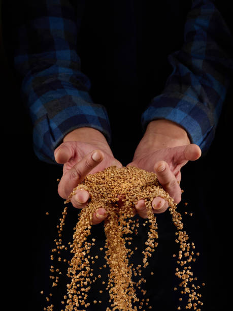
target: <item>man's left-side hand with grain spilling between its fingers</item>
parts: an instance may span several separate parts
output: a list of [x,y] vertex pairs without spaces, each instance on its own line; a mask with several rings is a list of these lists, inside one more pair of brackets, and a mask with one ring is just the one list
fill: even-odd
[[[63,143],[54,151],[57,163],[63,165],[63,175],[58,184],[58,193],[68,199],[73,189],[81,183],[86,175],[102,171],[109,166],[122,168],[122,164],[113,157],[107,143],[95,129],[80,128],[66,135]],[[102,135],[102,134],[101,134]],[[103,136],[104,137],[104,136]],[[69,141],[72,139],[72,141]],[[74,141],[74,140],[78,141]],[[84,142],[88,141],[88,142]],[[77,190],[71,198],[76,208],[83,208],[89,200],[86,190]],[[101,223],[107,216],[105,208],[99,208],[94,214],[92,224]]]

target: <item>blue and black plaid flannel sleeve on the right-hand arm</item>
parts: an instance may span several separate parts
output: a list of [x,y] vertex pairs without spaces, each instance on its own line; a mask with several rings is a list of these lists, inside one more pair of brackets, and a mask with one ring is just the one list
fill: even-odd
[[230,84],[232,57],[233,38],[214,1],[193,0],[183,46],[168,58],[173,72],[142,114],[143,132],[150,121],[168,119],[207,151]]

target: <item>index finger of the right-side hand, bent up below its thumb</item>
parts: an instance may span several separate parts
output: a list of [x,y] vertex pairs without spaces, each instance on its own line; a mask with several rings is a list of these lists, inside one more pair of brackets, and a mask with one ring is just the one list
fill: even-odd
[[162,188],[169,193],[175,203],[179,203],[181,201],[181,189],[168,163],[158,161],[154,166],[154,170]]

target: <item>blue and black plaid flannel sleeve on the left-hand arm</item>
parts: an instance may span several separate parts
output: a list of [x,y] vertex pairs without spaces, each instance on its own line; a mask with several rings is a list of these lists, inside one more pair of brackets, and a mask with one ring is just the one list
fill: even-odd
[[63,137],[76,128],[99,130],[111,143],[107,111],[93,103],[76,52],[83,5],[83,0],[26,0],[16,29],[14,64],[34,126],[34,150],[49,163],[55,163],[53,152]]

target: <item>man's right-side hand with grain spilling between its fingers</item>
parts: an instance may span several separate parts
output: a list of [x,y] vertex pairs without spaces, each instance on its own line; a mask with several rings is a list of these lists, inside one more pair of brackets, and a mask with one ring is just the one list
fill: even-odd
[[[155,172],[163,189],[169,193],[175,203],[181,201],[181,167],[188,161],[201,157],[201,149],[190,144],[186,132],[178,125],[167,120],[149,123],[147,131],[140,141],[134,159],[127,166],[136,166],[148,172]],[[161,197],[152,201],[154,213],[162,213],[168,208],[168,202]],[[143,198],[136,204],[136,210],[147,218]]]

